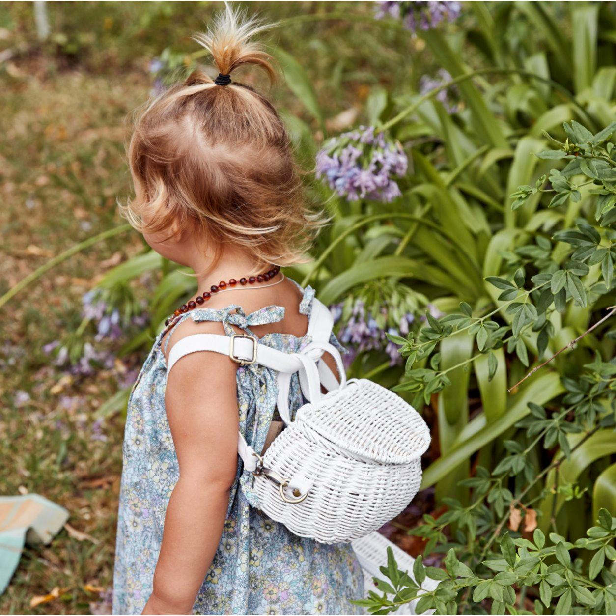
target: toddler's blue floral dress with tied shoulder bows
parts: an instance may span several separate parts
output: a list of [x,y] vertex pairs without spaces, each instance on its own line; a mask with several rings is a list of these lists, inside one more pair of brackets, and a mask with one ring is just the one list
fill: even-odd
[[[299,311],[310,315],[314,290],[303,291]],[[275,323],[281,306],[245,315],[239,306],[224,310],[193,309],[182,315],[194,322],[222,322],[254,335],[250,326]],[[164,408],[166,362],[162,338],[139,373],[128,403],[118,513],[113,614],[140,614],[152,592],[152,580],[164,516],[179,478],[176,450]],[[168,336],[168,339],[171,336]],[[261,344],[293,353],[310,343],[308,336],[269,333]],[[331,342],[338,345],[332,334]],[[256,364],[237,370],[240,430],[261,451],[277,400],[275,372]],[[303,403],[298,376],[291,381],[292,414]],[[259,509],[251,490],[253,475],[238,471],[219,548],[193,606],[194,614],[360,614],[351,603],[363,598],[363,576],[350,544],[324,545],[298,537]]]

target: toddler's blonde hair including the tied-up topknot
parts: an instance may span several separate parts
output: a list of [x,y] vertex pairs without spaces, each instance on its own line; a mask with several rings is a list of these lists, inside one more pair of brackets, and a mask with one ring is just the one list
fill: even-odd
[[[256,65],[273,81],[270,55],[252,40],[267,27],[227,5],[195,40],[221,74]],[[302,262],[323,224],[306,206],[272,104],[235,81],[218,86],[201,70],[148,103],[134,126],[129,163],[140,190],[121,209],[133,227],[172,237],[194,225],[215,259],[226,243],[259,264]]]

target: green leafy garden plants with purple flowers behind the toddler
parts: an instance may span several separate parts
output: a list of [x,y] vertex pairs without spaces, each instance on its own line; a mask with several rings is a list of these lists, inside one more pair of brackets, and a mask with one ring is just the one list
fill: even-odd
[[[363,603],[385,614],[429,577],[418,612],[613,614],[616,18],[600,3],[472,2],[459,17],[384,4],[354,17],[406,29],[439,79],[376,84],[362,128],[322,141],[314,86],[278,55],[304,105],[285,117],[321,179],[310,194],[332,219],[289,274],[342,317],[350,376],[407,397],[436,444],[423,479],[436,508],[409,533],[442,567],[420,556],[400,572],[391,556]],[[124,352],[194,290],[152,252],[99,287],[118,297],[148,271],[151,328]]]

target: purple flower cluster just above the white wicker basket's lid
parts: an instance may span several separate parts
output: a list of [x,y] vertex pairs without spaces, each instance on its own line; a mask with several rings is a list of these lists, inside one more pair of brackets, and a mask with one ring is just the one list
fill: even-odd
[[[330,310],[334,323],[337,323],[342,317],[342,304],[334,304]],[[349,353],[343,357],[347,367],[351,365],[357,354],[363,351],[384,351],[389,355],[389,363],[392,366],[402,362],[403,357],[398,352],[399,347],[389,341],[386,334],[406,336],[415,316],[409,312],[400,320],[398,328],[387,327],[386,329],[379,327],[377,316],[367,310],[362,301],[355,302],[351,317],[338,334],[340,342],[351,347]],[[381,307],[381,317],[387,318],[386,307]]]

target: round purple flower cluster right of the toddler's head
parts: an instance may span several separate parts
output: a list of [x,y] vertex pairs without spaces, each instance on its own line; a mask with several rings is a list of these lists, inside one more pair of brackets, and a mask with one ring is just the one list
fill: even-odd
[[402,146],[374,127],[360,126],[331,139],[317,154],[316,176],[349,201],[389,203],[402,193],[393,177],[408,168]]

